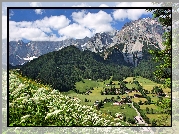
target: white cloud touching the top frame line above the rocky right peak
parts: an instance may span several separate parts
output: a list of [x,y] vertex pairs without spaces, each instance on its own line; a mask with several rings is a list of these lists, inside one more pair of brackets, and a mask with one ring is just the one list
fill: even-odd
[[151,14],[145,11],[145,9],[118,9],[113,12],[113,17],[115,20],[123,21],[128,18],[129,20],[137,20],[142,15]]

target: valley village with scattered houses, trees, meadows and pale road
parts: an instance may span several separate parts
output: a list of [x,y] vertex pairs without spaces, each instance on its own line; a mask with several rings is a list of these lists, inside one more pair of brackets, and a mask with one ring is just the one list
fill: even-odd
[[[88,80],[92,82],[91,80]],[[90,87],[86,91],[79,92],[79,98],[84,98],[84,104],[92,105],[96,110],[102,111],[114,117],[126,121],[132,125],[150,126],[152,120],[147,115],[155,115],[159,112],[155,109],[156,103],[163,98],[170,98],[170,92],[158,86],[151,90],[144,89],[147,84],[133,78],[131,81],[108,81],[101,82],[102,87]],[[145,84],[144,84],[145,83]],[[100,90],[100,91],[99,91]],[[97,95],[100,94],[99,95]],[[95,94],[94,98],[92,97]],[[86,97],[85,97],[86,96]],[[99,96],[99,97],[97,97]],[[78,98],[77,97],[77,98]],[[95,100],[96,98],[96,100]],[[102,99],[103,98],[103,99]],[[158,101],[157,101],[158,100]]]

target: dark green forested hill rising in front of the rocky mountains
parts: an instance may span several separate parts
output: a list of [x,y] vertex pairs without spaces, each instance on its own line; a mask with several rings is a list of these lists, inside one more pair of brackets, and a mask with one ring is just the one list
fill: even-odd
[[20,72],[60,91],[74,89],[74,84],[82,79],[106,80],[115,74],[116,80],[122,80],[133,75],[131,67],[119,66],[99,54],[81,51],[75,46],[40,56],[22,66]]

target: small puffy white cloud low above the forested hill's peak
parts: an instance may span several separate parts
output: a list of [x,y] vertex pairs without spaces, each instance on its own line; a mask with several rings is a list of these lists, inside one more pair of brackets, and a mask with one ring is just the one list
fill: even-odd
[[59,34],[62,36],[71,37],[75,39],[83,39],[86,36],[92,36],[92,33],[89,29],[76,23],[73,23],[65,28],[60,29]]

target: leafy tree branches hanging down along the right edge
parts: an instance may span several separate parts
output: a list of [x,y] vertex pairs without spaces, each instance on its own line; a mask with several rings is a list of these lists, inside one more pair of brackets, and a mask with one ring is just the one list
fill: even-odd
[[160,23],[167,29],[163,34],[163,46],[164,50],[150,50],[150,53],[153,55],[153,59],[156,62],[162,61],[157,70],[154,72],[155,76],[158,79],[165,78],[165,87],[171,87],[171,64],[172,64],[172,56],[171,56],[171,47],[172,47],[172,34],[171,34],[171,26],[172,26],[172,8],[165,9],[148,9],[147,11],[153,11],[153,17],[158,18]]

